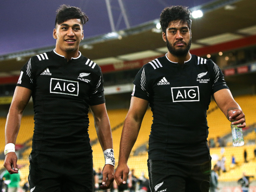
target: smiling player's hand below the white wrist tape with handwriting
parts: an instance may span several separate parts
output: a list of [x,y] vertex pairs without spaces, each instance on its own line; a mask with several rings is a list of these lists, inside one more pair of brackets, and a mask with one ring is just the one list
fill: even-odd
[[109,189],[114,181],[114,166],[106,164],[102,170],[102,185],[99,186],[102,190]]

